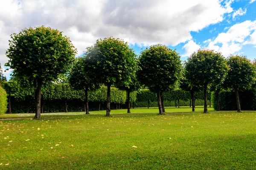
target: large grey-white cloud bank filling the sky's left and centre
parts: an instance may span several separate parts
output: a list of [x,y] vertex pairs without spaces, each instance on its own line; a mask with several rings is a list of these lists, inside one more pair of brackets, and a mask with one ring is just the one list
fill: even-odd
[[64,31],[79,54],[99,38],[119,37],[131,44],[177,45],[224,20],[233,0],[0,0],[0,63],[7,62],[9,36],[25,27]]

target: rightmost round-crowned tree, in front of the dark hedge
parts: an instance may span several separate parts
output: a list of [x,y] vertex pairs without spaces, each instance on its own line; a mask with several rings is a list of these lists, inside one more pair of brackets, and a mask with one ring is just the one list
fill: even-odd
[[239,91],[249,89],[255,83],[255,66],[245,56],[230,56],[227,59],[230,69],[224,85],[236,93],[237,112],[241,112]]

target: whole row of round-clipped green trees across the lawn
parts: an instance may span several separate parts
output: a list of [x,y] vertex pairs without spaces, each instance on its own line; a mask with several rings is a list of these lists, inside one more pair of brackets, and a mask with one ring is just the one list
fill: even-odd
[[[165,112],[163,92],[182,88],[190,91],[194,101],[195,91],[204,89],[204,113],[207,113],[208,89],[218,91],[225,84],[226,88],[239,91],[250,87],[255,77],[255,68],[245,57],[225,59],[221,53],[207,49],[193,53],[182,65],[179,54],[165,45],[152,45],[137,57],[127,42],[108,37],[97,40],[83,56],[75,59],[76,48],[69,38],[62,36],[58,30],[44,26],[25,28],[18,34],[12,34],[9,42],[6,51],[9,62],[6,66],[13,69],[12,76],[23,85],[36,89],[35,119],[41,117],[42,85],[56,81],[67,73],[73,88],[84,91],[87,114],[88,90],[107,86],[106,116],[110,116],[111,112],[111,86],[127,91],[128,113],[130,93],[141,86],[157,93],[160,114]],[[234,80],[237,78],[241,81]],[[232,82],[237,83],[236,87]],[[193,102],[192,106],[194,111]]]

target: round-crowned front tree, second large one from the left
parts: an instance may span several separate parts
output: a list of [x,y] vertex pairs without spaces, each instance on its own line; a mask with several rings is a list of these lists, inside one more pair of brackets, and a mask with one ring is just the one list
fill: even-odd
[[96,82],[107,85],[106,116],[110,116],[111,85],[129,85],[136,55],[127,42],[108,37],[87,48],[84,57],[89,63],[88,69],[93,70],[91,76],[96,77]]

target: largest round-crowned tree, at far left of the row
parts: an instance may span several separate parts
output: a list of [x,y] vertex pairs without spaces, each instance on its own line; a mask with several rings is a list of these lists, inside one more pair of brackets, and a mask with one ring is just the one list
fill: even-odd
[[35,117],[41,118],[41,87],[54,81],[70,68],[76,48],[62,32],[40,26],[25,28],[12,34],[5,66],[13,69],[13,76],[22,84],[31,84],[35,91]]

